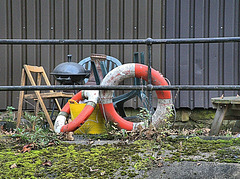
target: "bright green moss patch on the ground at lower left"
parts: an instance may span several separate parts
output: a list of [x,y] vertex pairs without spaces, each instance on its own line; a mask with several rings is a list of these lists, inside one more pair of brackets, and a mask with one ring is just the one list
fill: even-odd
[[[0,150],[0,177],[10,178],[111,178],[117,171],[121,176],[133,177],[137,171],[149,168],[146,157],[141,157],[145,144],[119,144],[104,146],[59,145],[29,153],[18,153],[8,148]],[[149,159],[148,159],[149,160]],[[43,165],[51,161],[51,165]],[[17,168],[10,169],[13,164]],[[134,168],[129,172],[129,168]],[[104,177],[103,177],[104,176]]]

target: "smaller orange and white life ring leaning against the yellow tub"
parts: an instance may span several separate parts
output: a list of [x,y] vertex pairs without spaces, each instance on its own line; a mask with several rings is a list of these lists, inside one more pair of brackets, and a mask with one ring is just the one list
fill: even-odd
[[54,131],[56,133],[73,132],[77,128],[81,127],[95,109],[98,103],[98,98],[98,90],[85,90],[78,92],[75,96],[72,97],[72,99],[77,102],[88,99],[86,106],[72,122],[65,125],[66,119],[70,113],[69,103],[66,103],[56,118],[56,121],[54,123]]

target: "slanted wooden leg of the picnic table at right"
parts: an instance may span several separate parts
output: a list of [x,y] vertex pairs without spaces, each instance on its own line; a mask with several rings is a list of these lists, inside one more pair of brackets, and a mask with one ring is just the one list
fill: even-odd
[[218,106],[215,117],[214,117],[214,120],[213,120],[213,123],[212,123],[211,130],[210,130],[210,133],[209,133],[210,136],[211,135],[218,135],[220,127],[222,125],[222,122],[225,118],[225,114],[227,112],[227,109],[228,109],[228,105],[224,105],[224,106],[219,105]]

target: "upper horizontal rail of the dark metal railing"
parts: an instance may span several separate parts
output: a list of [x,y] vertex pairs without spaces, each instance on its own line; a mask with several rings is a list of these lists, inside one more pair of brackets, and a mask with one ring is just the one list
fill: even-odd
[[240,37],[179,38],[179,39],[0,39],[5,45],[118,45],[118,44],[189,44],[240,42]]

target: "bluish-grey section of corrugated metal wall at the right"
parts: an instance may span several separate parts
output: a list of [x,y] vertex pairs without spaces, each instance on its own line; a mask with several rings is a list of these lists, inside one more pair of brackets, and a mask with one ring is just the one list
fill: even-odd
[[[238,0],[167,0],[164,38],[239,36]],[[165,75],[173,84],[239,84],[239,43],[166,45]],[[237,92],[180,92],[177,106],[211,106]]]

